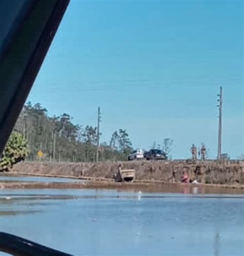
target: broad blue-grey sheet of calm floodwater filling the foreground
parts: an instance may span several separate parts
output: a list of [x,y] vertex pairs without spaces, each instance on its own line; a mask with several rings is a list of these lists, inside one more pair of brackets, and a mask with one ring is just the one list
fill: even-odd
[[197,188],[195,194],[1,190],[0,230],[74,255],[242,256],[243,199]]

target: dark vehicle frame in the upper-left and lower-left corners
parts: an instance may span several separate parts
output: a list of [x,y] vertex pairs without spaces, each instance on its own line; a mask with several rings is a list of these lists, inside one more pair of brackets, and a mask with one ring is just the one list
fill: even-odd
[[[69,0],[0,2],[0,153],[53,41]],[[18,256],[69,255],[0,232],[0,251]]]

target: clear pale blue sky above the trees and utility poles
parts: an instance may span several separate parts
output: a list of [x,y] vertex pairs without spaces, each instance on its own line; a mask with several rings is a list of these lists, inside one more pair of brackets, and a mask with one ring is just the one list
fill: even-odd
[[78,1],[69,4],[28,100],[50,115],[126,129],[134,147],[173,140],[173,158],[201,142],[243,153],[242,1]]

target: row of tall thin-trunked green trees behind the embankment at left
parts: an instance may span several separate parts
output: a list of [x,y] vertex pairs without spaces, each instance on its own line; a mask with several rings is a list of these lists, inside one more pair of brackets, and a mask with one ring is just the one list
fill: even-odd
[[[38,152],[42,151],[43,161],[96,161],[97,127],[74,124],[67,113],[49,116],[40,103],[32,105],[28,102],[14,130],[22,133],[28,143],[26,160],[38,161]],[[123,161],[131,152],[132,143],[127,131],[119,129],[113,132],[109,143],[100,143],[98,150],[99,161]]]

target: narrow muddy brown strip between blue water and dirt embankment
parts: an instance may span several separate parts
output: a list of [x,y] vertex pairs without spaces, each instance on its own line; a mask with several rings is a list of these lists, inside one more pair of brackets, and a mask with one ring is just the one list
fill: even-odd
[[[59,178],[60,179],[60,178]],[[38,182],[24,179],[0,180],[2,189],[111,189],[118,191],[147,192],[147,193],[183,193],[183,194],[244,194],[243,187],[236,188],[224,185],[208,184],[179,184],[179,183],[117,183],[104,181],[54,181],[55,178],[39,177]]]

